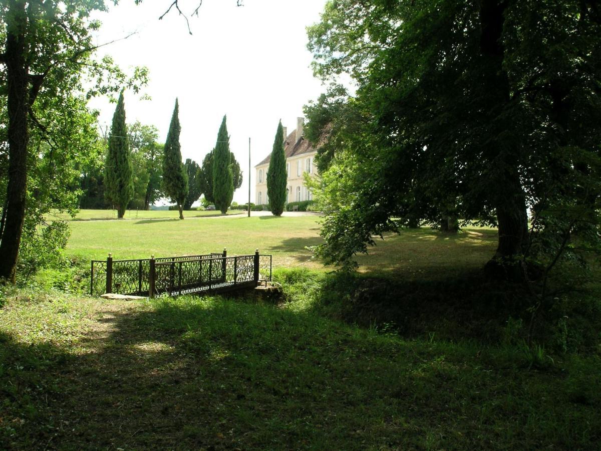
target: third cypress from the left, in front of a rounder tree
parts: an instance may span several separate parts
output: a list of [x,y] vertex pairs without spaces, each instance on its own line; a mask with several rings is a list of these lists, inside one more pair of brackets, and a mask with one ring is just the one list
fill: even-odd
[[230,137],[227,126],[221,121],[213,155],[213,198],[215,207],[225,215],[234,198],[234,177],[231,173]]

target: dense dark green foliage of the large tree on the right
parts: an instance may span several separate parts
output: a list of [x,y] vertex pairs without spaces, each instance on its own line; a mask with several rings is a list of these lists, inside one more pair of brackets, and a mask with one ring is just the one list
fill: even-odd
[[[570,253],[561,244],[570,224],[598,227],[595,8],[340,0],[308,34],[316,74],[346,73],[358,85],[307,107],[313,139],[328,137],[317,161],[327,169],[320,253],[329,262],[350,266],[374,236],[454,216],[498,226],[493,262],[523,277],[527,248],[548,267]],[[549,218],[530,236],[526,207]],[[586,235],[585,247],[598,248],[599,236]],[[571,254],[561,260],[575,262]]]

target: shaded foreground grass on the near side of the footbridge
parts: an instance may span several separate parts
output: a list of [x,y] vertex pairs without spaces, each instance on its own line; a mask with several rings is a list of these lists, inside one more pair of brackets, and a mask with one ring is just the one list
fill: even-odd
[[533,366],[332,321],[315,299],[10,298],[0,447],[596,449],[598,355]]

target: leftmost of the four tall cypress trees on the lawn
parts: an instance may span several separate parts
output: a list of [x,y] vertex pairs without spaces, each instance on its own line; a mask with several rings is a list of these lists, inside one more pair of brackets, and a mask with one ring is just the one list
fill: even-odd
[[132,155],[127,139],[123,91],[119,94],[117,108],[113,115],[105,173],[106,201],[117,208],[117,217],[123,218],[127,203],[133,196]]

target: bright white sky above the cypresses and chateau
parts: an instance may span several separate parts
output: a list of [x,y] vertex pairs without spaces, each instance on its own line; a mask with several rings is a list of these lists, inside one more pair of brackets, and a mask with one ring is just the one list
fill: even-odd
[[[199,0],[180,0],[191,14]],[[108,3],[108,2],[107,2]],[[122,0],[108,14],[99,14],[103,26],[98,43],[138,31],[126,40],[102,48],[127,70],[147,66],[150,83],[142,91],[151,100],[126,93],[128,123],[136,120],[159,129],[165,141],[178,97],[182,133],[182,158],[201,164],[214,146],[219,125],[227,114],[230,149],[243,169],[242,188],[234,201],[248,198],[248,138],[251,138],[251,200],[254,199],[254,165],[271,152],[278,120],[296,127],[302,106],[324,90],[309,67],[305,27],[319,20],[326,0],[204,0],[199,17],[186,21],[172,9],[158,17],[171,0],[145,0],[135,6]],[[110,124],[115,105],[108,98],[93,99],[100,124]]]

